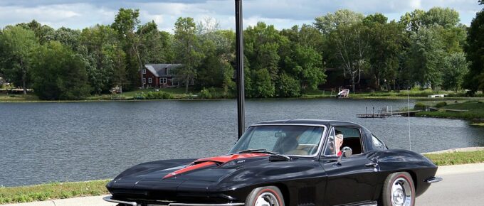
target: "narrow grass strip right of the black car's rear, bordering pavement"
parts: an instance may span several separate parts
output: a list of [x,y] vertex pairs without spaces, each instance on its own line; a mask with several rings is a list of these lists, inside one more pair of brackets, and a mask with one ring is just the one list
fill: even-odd
[[437,166],[451,166],[469,163],[483,163],[484,151],[425,154]]

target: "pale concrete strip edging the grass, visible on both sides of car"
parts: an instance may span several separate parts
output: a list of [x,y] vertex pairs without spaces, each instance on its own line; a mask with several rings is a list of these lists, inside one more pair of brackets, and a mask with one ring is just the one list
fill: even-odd
[[[484,172],[484,163],[456,165],[456,166],[441,166],[438,167],[437,176],[478,173]],[[445,180],[444,180],[445,181]],[[105,202],[102,197],[107,195],[93,196],[93,197],[75,197],[71,199],[48,200],[42,202],[28,202],[1,206],[115,206],[116,204]]]

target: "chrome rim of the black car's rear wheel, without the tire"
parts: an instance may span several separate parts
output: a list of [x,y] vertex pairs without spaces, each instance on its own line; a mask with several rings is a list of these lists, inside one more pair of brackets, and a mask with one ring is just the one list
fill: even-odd
[[405,178],[397,178],[391,185],[391,205],[409,206],[412,204],[412,188]]

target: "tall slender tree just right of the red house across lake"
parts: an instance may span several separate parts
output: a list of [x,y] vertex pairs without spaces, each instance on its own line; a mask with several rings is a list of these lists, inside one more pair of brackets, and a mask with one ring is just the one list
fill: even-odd
[[188,85],[196,77],[196,67],[199,66],[204,54],[199,51],[199,42],[196,36],[194,19],[178,18],[175,23],[175,48],[177,60],[183,66],[175,71],[179,80],[184,82],[185,93],[188,93]]

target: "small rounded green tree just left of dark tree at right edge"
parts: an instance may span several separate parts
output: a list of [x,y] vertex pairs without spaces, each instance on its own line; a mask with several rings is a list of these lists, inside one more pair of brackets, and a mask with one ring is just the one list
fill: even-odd
[[463,77],[468,72],[468,62],[464,53],[453,53],[443,61],[442,87],[444,90],[457,90],[463,83]]

